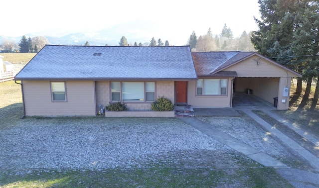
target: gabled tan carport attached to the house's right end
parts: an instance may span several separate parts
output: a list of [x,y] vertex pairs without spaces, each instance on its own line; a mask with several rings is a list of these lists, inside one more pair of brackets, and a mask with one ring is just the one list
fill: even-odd
[[257,53],[232,63],[224,71],[237,73],[233,82],[233,100],[236,99],[234,93],[238,92],[255,95],[270,103],[274,103],[276,97],[279,110],[289,107],[291,79],[302,77],[301,74]]

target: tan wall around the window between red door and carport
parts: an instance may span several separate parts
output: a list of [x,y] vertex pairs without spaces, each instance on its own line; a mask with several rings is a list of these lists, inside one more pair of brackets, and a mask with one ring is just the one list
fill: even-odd
[[232,78],[228,79],[226,96],[197,96],[196,81],[188,82],[188,104],[193,107],[230,107]]

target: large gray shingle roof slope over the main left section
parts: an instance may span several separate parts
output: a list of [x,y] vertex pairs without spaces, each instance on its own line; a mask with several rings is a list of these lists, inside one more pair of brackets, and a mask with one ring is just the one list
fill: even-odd
[[197,80],[189,46],[46,45],[15,80]]

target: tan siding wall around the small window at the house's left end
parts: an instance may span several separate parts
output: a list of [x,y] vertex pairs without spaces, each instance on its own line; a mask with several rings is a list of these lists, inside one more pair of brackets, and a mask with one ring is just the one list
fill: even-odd
[[96,115],[94,81],[66,81],[67,102],[52,102],[50,81],[23,81],[25,115]]

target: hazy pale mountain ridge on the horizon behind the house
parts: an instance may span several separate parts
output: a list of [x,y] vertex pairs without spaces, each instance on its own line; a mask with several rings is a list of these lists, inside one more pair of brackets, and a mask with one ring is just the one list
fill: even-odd
[[[150,42],[152,37],[156,40],[159,38],[162,41],[168,40],[169,44],[173,45],[174,40],[170,41],[167,36],[164,36],[157,32],[159,26],[154,24],[152,21],[147,20],[135,20],[123,24],[113,25],[106,27],[100,31],[94,32],[74,32],[65,33],[58,30],[46,30],[41,32],[34,32],[25,34],[27,38],[35,36],[44,36],[49,44],[53,45],[84,45],[86,41],[91,46],[118,46],[122,36],[127,38],[130,45],[134,45],[135,42],[138,44]],[[10,37],[0,35],[0,44],[5,40],[12,40],[16,44],[19,43],[22,36]],[[170,36],[171,37],[171,36]],[[185,39],[187,41],[187,38]],[[185,42],[186,43],[186,42]]]

